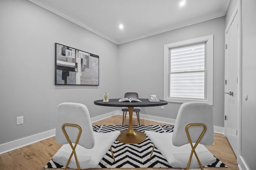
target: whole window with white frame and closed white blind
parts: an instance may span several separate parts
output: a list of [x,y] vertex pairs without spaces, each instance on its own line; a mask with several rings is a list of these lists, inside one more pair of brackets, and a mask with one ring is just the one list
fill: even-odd
[[164,45],[164,100],[213,100],[213,35]]

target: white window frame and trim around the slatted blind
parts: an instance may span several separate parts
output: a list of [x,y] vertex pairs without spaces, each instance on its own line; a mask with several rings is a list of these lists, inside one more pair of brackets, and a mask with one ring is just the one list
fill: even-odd
[[[198,37],[194,39],[189,39],[185,41],[179,41],[175,43],[170,43],[164,45],[164,100],[168,102],[184,103],[184,102],[206,102],[210,105],[213,104],[213,39],[214,35],[208,35],[204,37]],[[189,45],[194,45],[198,43],[206,42],[205,48],[205,98],[195,99],[195,98],[171,98],[170,94],[170,49],[179,48]]]

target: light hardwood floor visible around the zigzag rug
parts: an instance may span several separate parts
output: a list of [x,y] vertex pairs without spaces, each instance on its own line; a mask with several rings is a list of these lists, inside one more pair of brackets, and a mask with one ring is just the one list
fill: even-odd
[[[125,124],[128,125],[129,117],[126,117]],[[133,124],[138,125],[137,119],[133,118]],[[146,119],[140,119],[140,125],[164,125],[156,121],[149,121]],[[122,115],[114,115],[112,117],[97,121],[93,125],[122,125]],[[0,155],[0,170],[42,170],[52,156],[61,147],[56,141],[55,137],[46,139],[22,147],[20,149],[13,150],[8,153]],[[214,144],[207,146],[208,150],[214,156],[219,158],[228,168],[225,170],[238,170],[236,163],[236,156],[230,147],[228,140],[224,135],[215,133]],[[133,170],[171,170],[172,168],[132,168]],[[205,170],[212,170],[212,168],[204,168]],[[220,169],[220,168],[218,168]],[[223,168],[222,168],[223,169]],[[52,170],[52,169],[46,169]],[[72,169],[69,169],[72,170]],[[116,169],[108,169],[116,170]],[[122,168],[122,170],[131,170]]]

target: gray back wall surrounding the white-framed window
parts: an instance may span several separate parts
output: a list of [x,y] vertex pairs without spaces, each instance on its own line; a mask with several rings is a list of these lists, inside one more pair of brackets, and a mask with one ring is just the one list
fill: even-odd
[[[164,44],[214,35],[214,125],[224,127],[224,30],[225,18],[217,18],[118,46],[118,90],[138,92],[140,98],[156,94],[163,99]],[[164,109],[145,107],[142,114],[176,119],[180,104]]]

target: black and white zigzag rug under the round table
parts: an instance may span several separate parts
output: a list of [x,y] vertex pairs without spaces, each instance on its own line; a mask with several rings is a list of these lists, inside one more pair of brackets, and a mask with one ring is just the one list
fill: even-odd
[[[157,131],[159,133],[171,133],[174,125],[133,125],[133,129],[138,131]],[[111,131],[122,131],[128,129],[128,125],[93,125],[93,130],[96,132],[106,133]],[[102,158],[98,164],[98,168],[172,168],[167,160],[162,156],[157,148],[149,159],[153,143],[148,137],[142,143],[124,144],[115,141],[112,145],[112,150],[115,155],[115,162],[112,159],[110,150]],[[216,162],[205,167],[227,167],[218,158]],[[44,168],[64,168],[64,166],[50,160]]]

